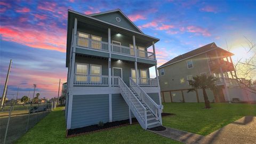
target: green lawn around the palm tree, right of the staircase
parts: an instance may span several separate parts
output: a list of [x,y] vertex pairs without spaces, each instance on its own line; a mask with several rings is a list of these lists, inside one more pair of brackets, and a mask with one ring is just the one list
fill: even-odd
[[164,112],[175,116],[163,117],[163,125],[201,135],[207,135],[246,115],[256,116],[256,105],[244,103],[164,103]]

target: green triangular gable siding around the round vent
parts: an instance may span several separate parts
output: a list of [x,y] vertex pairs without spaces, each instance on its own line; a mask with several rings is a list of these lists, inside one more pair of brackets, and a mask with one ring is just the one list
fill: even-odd
[[[140,31],[137,28],[135,28],[132,25],[132,23],[129,20],[127,20],[120,12],[112,12],[112,13],[94,15],[92,17],[112,23],[114,25],[117,25],[117,26],[120,26],[123,28],[137,31],[140,33]],[[121,19],[121,21],[120,22],[116,21],[116,17],[119,17]]]

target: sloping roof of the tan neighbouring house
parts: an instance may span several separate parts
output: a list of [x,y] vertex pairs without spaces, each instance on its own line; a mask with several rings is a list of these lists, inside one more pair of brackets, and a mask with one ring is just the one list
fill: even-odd
[[179,62],[179,61],[182,61],[182,60],[185,60],[185,59],[189,59],[189,58],[195,57],[195,56],[197,56],[199,54],[203,54],[203,53],[206,53],[206,52],[209,52],[209,51],[212,51],[212,50],[216,50],[216,49],[219,49],[221,51],[225,51],[225,52],[229,53],[230,55],[234,55],[233,53],[231,53],[229,51],[221,49],[220,47],[218,47],[213,42],[213,43],[204,45],[202,47],[199,47],[198,49],[195,49],[193,51],[190,51],[190,52],[184,53],[182,55],[179,55],[178,57],[175,57],[175,58],[171,59],[170,61],[167,61],[162,66],[158,67],[158,69],[162,68],[162,67],[166,67],[166,66],[172,65],[173,63],[176,63],[176,62]]

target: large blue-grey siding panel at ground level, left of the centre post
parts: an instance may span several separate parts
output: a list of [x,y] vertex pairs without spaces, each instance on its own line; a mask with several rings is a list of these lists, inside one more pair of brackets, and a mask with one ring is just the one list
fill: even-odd
[[109,95],[73,95],[71,129],[109,122]]

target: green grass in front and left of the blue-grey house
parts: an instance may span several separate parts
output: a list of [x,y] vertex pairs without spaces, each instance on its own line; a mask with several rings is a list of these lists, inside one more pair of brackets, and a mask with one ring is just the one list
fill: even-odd
[[141,129],[139,124],[66,138],[64,111],[58,108],[15,143],[180,143]]

